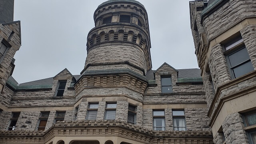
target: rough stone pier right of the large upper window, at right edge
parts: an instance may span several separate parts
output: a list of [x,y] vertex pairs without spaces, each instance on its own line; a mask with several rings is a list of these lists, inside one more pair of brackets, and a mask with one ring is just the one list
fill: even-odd
[[240,32],[252,61],[252,66],[254,67],[254,70],[256,70],[256,25],[246,26]]

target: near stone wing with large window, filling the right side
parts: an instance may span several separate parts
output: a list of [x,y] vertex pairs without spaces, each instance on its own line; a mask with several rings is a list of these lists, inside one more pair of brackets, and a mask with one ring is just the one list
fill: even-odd
[[215,144],[256,144],[256,1],[190,2]]

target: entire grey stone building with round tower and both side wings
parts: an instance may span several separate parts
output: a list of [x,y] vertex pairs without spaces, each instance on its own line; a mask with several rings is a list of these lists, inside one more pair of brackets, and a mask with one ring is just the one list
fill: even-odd
[[[253,0],[190,2],[201,70],[167,63],[152,70],[145,7],[108,0],[94,12],[80,75],[64,69],[22,84],[11,76],[20,22],[13,22],[13,0],[0,3],[1,144],[239,144],[255,137]],[[244,51],[247,59],[228,64]]]

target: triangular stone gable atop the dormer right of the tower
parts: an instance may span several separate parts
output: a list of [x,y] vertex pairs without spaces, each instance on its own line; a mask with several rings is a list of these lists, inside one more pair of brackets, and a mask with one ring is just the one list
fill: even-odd
[[171,75],[178,74],[178,70],[167,64],[166,62],[162,64],[155,72],[155,75]]

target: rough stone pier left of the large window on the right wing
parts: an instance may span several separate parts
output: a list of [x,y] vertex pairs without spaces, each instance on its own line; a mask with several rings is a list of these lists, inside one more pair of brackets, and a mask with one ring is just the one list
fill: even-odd
[[223,54],[221,44],[217,44],[212,47],[211,55],[209,57],[209,67],[215,91],[218,86],[231,80],[229,68]]

